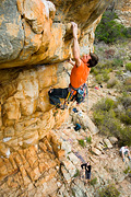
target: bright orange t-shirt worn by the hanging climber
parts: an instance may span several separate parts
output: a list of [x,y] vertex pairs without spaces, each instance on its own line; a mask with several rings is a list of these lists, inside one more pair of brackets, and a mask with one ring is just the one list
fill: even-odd
[[80,67],[74,66],[70,76],[71,85],[74,89],[80,88],[83,83],[86,82],[90,71],[91,68],[88,68],[83,61],[81,61]]

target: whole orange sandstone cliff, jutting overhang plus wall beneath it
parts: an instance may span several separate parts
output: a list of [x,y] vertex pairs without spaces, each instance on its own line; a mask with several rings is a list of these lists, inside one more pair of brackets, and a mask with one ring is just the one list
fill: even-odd
[[63,60],[72,56],[70,22],[79,24],[81,55],[92,51],[96,25],[110,2],[1,1],[0,155],[37,144],[68,117],[68,111],[52,108],[48,90],[69,84]]

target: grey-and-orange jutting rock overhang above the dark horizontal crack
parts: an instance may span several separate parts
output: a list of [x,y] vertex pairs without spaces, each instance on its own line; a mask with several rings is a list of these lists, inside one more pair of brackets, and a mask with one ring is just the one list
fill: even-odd
[[[71,25],[79,24],[83,53],[110,1],[4,0],[0,3],[0,68],[62,61],[71,55]],[[84,36],[86,35],[86,36]],[[86,38],[86,42],[85,42]]]

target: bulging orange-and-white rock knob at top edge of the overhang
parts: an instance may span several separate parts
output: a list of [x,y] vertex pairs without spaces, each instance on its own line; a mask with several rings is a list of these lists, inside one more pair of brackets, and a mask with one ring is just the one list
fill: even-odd
[[17,0],[17,8],[20,13],[25,16],[25,20],[31,23],[32,30],[38,34],[44,31],[45,21],[49,16],[53,19],[56,11],[51,2],[50,4],[46,1],[44,3],[41,0]]

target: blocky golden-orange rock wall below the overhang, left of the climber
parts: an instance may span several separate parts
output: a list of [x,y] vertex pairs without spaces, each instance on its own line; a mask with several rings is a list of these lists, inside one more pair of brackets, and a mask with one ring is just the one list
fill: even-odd
[[9,157],[20,148],[37,144],[68,118],[68,109],[56,111],[48,97],[51,85],[68,86],[68,81],[61,82],[58,65],[14,69],[9,73],[1,70],[0,76],[4,76],[0,89],[0,155]]

